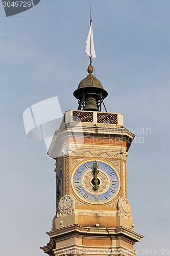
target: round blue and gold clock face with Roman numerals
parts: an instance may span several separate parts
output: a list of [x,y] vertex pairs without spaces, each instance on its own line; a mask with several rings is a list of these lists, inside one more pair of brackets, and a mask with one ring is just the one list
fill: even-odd
[[86,162],[72,174],[71,185],[78,197],[91,204],[111,201],[120,188],[119,176],[103,162]]

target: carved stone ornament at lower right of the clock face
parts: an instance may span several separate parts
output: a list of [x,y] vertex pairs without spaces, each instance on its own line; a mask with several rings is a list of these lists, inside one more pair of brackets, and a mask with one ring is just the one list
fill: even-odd
[[128,199],[126,199],[125,197],[121,197],[118,200],[118,211],[121,216],[128,217],[130,220],[132,220],[131,206]]

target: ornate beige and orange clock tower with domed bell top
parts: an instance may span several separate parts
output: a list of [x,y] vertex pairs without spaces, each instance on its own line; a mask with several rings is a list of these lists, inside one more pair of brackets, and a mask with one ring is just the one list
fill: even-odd
[[122,114],[107,112],[107,92],[91,65],[87,71],[74,92],[78,110],[65,112],[48,150],[56,160],[56,216],[41,249],[50,256],[134,256],[143,238],[127,199],[126,158],[135,135]]

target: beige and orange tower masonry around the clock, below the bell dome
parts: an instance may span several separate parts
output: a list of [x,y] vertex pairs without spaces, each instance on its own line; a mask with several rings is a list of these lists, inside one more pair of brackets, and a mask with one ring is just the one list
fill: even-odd
[[[82,117],[86,116],[84,121]],[[116,118],[116,123],[110,123],[110,117]],[[57,177],[62,170],[63,184],[53,228],[47,232],[50,243],[41,247],[45,253],[96,255],[98,251],[99,255],[135,255],[133,245],[143,236],[134,232],[126,182],[126,157],[134,137],[123,126],[122,114],[65,112],[48,151],[56,159]],[[80,165],[95,160],[114,169],[119,187],[110,201],[92,204],[76,193],[72,175]]]

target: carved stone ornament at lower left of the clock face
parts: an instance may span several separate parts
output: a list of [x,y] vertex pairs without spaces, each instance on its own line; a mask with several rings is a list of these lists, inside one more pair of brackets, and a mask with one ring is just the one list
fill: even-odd
[[72,196],[66,195],[60,199],[59,211],[61,214],[72,214],[75,210],[75,200]]

